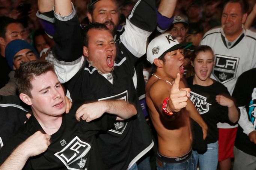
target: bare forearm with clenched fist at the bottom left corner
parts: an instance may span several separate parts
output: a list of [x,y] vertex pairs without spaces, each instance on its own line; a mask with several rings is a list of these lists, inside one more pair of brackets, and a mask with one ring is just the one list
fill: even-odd
[[45,152],[50,145],[50,135],[37,131],[21,143],[0,166],[0,170],[21,170],[29,157]]

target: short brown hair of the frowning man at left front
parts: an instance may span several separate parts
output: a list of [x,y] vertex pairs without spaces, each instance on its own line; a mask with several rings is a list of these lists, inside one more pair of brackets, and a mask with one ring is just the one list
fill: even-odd
[[20,68],[15,70],[15,84],[19,93],[27,94],[32,97],[31,90],[33,88],[31,82],[36,76],[40,76],[47,72],[54,72],[54,66],[52,63],[32,60],[27,63],[21,64]]

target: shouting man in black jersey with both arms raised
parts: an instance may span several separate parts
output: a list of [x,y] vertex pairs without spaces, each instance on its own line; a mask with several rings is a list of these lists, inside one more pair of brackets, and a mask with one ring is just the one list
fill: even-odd
[[137,116],[115,122],[97,140],[105,169],[130,169],[154,145],[132,78],[134,64],[145,54],[147,38],[156,26],[155,1],[135,5],[116,43],[104,24],[89,25],[81,38],[74,9],[69,15],[54,15],[54,67],[60,82],[67,82],[72,100],[125,100],[136,106]]

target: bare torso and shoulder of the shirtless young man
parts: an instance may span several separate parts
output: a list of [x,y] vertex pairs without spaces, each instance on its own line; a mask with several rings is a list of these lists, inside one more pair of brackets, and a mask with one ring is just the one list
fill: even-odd
[[[162,82],[158,82],[162,81]],[[152,123],[157,131],[158,151],[167,157],[179,157],[187,154],[191,149],[192,134],[190,128],[190,118],[186,108],[183,108],[174,120],[166,119],[160,113],[157,106],[154,104],[149,91],[151,86],[159,86],[159,89],[166,88],[170,93],[172,85],[163,80],[159,80],[152,76],[146,84],[146,102],[149,107],[149,113]],[[166,92],[167,92],[166,91]],[[166,94],[167,97],[169,94]],[[163,101],[162,101],[163,103]]]

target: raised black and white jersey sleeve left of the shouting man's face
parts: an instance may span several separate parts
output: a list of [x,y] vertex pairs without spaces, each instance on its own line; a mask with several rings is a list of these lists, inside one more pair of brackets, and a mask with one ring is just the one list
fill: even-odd
[[69,81],[84,62],[81,28],[75,9],[68,16],[54,12],[54,69],[61,83]]

